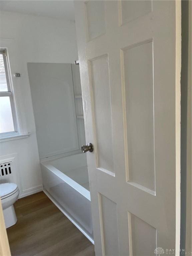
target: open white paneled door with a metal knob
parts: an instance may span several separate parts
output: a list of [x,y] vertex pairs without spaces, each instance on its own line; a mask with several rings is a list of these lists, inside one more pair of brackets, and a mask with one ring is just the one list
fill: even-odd
[[75,12],[96,255],[179,255],[181,2]]

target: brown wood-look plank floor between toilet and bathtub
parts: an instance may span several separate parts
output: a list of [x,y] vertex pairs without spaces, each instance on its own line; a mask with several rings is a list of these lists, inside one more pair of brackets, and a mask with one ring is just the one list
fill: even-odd
[[17,223],[7,229],[12,256],[94,256],[94,245],[43,193],[15,204]]

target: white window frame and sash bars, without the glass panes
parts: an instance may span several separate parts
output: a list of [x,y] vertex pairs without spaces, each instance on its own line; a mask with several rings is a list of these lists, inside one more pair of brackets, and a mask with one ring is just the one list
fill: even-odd
[[13,83],[11,79],[11,71],[10,71],[7,48],[0,47],[0,53],[3,54],[5,75],[6,75],[6,81],[7,81],[7,91],[6,92],[0,91],[0,97],[10,98],[11,112],[12,112],[13,124],[14,124],[14,131],[0,133],[0,139],[3,139],[3,138],[19,136],[21,135],[21,133],[20,133],[20,127],[18,122],[18,115],[17,115],[16,102],[14,97]]

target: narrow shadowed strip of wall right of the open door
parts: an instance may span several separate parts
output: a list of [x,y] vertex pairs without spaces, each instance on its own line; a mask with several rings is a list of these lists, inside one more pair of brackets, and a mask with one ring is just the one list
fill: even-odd
[[192,251],[192,2],[182,1],[181,48],[181,249]]

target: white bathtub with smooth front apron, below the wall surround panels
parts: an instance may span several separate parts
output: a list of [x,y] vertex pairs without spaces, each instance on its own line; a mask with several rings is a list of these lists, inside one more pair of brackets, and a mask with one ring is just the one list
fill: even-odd
[[43,161],[41,170],[45,194],[94,243],[86,154]]

